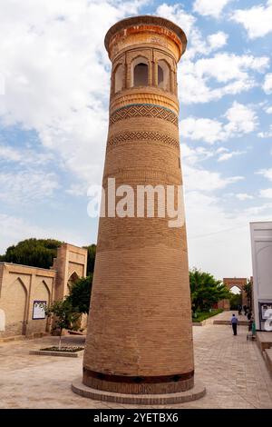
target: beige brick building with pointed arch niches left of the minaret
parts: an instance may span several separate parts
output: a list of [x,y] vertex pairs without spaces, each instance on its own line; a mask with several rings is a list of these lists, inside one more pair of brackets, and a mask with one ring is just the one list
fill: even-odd
[[0,339],[50,332],[44,305],[62,299],[86,276],[87,250],[63,243],[50,269],[0,263]]

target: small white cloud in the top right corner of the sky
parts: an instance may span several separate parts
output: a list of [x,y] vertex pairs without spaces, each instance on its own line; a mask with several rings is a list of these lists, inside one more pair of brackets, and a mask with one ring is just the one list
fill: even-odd
[[254,5],[249,9],[238,9],[231,17],[245,27],[251,39],[263,37],[272,31],[272,0],[267,5]]

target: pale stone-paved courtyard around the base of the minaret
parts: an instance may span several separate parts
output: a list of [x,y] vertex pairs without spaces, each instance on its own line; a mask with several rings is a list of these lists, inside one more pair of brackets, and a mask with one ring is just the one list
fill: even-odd
[[[229,317],[228,314],[225,314]],[[208,324],[194,329],[196,381],[207,395],[168,408],[272,408],[272,380],[257,348],[247,341],[248,328]],[[67,337],[78,343],[81,337]],[[83,357],[70,359],[28,354],[56,343],[57,337],[0,345],[0,408],[137,408],[92,401],[71,391],[81,375]],[[166,406],[153,406],[153,408]]]

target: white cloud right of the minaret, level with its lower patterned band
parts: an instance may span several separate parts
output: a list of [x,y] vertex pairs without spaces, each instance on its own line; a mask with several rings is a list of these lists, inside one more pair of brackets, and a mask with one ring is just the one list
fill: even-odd
[[[236,101],[228,108],[224,117],[228,120],[227,124],[218,120],[188,117],[180,122],[180,134],[194,141],[201,140],[214,144],[231,137],[249,134],[257,127],[257,115],[254,110]],[[236,152],[236,154],[241,153]],[[227,160],[228,157],[229,154],[226,154],[222,160]]]

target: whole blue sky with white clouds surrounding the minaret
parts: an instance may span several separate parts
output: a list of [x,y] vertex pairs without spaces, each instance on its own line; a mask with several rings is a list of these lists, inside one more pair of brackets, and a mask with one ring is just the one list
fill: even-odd
[[189,264],[250,276],[249,222],[272,220],[272,1],[5,0],[0,25],[0,253],[27,237],[96,242],[108,28],[130,15],[180,25],[180,146]]

